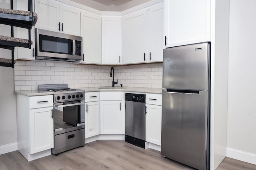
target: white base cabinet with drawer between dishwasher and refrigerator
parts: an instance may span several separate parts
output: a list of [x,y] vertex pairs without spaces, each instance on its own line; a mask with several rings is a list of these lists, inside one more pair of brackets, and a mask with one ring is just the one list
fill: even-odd
[[146,141],[161,145],[162,95],[146,94]]

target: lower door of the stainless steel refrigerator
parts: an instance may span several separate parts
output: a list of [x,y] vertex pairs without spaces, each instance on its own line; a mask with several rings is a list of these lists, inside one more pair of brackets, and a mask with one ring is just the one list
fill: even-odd
[[208,91],[162,92],[161,154],[206,170]]

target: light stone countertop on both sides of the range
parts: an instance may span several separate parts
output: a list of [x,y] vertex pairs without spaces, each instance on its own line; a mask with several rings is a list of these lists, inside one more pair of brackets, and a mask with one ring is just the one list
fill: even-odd
[[[141,93],[155,93],[155,94],[162,94],[162,88],[139,88],[139,87],[116,87],[112,89],[111,87],[88,87],[88,88],[77,88],[82,89],[85,92],[102,92],[102,91],[122,91],[122,92],[141,92]],[[14,91],[15,94],[22,94],[25,96],[42,96],[42,95],[51,95],[53,92],[45,92],[39,90],[21,90],[21,91]]]

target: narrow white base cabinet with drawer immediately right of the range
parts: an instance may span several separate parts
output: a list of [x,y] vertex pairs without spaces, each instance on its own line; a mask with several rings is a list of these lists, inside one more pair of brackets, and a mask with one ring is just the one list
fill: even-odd
[[100,92],[84,94],[85,104],[85,138],[100,134]]

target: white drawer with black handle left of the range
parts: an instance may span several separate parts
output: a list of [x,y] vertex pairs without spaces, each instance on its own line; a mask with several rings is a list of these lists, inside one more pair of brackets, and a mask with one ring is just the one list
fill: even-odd
[[29,97],[29,105],[30,109],[50,107],[53,106],[53,97],[52,95],[32,96]]

